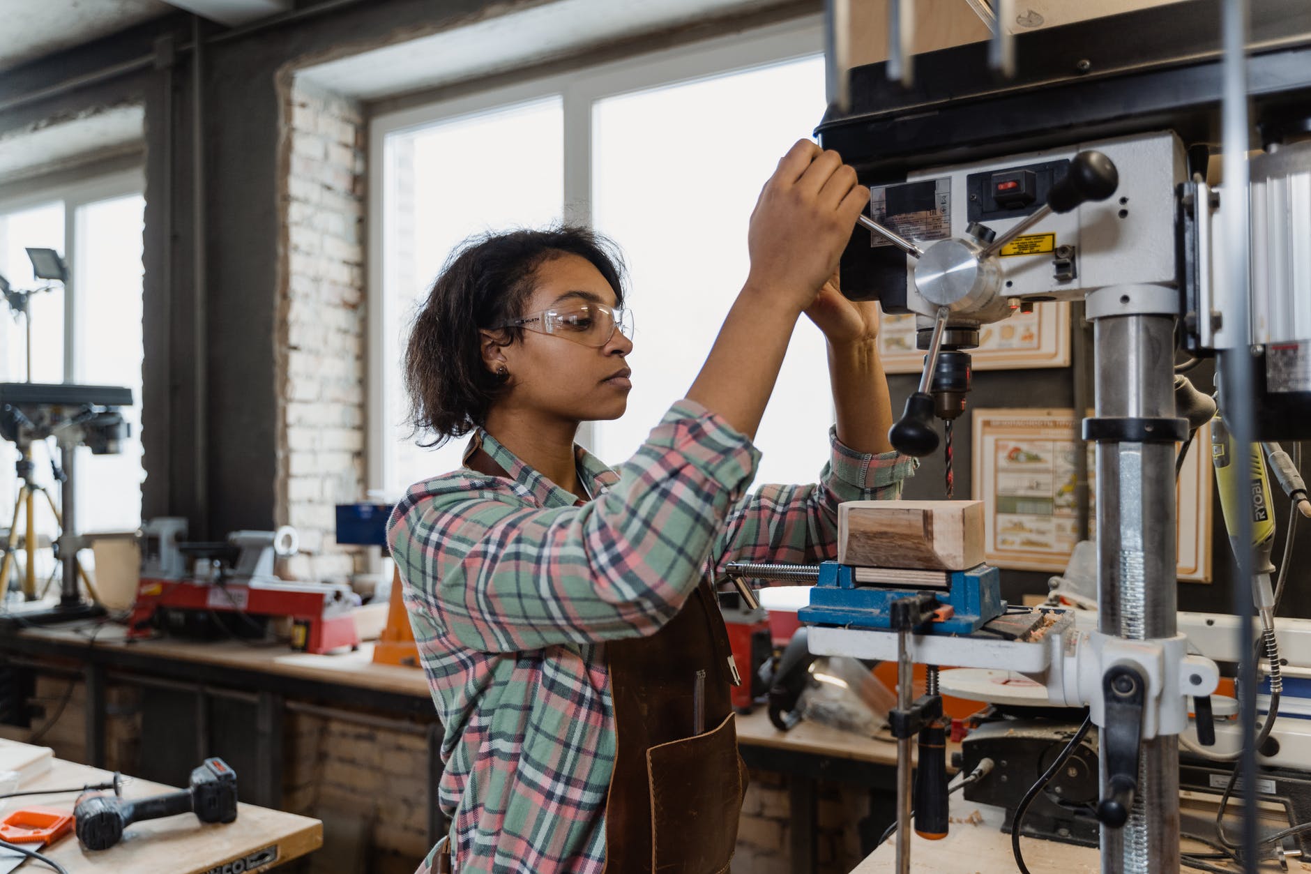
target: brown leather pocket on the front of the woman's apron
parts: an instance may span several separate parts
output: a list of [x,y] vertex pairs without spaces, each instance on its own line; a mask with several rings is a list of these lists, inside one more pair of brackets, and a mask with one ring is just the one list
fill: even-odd
[[646,751],[654,874],[728,870],[746,789],[733,717],[705,734]]

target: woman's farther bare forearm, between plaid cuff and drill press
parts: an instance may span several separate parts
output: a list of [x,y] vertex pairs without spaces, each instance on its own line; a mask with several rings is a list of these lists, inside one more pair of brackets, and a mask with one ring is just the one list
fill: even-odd
[[838,440],[857,453],[891,451],[888,441],[891,399],[878,340],[829,343],[829,382],[838,413]]

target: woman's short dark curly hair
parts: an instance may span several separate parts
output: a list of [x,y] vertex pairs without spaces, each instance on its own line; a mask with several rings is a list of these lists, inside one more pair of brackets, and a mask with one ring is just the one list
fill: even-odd
[[[585,227],[553,226],[484,234],[461,243],[447,259],[414,316],[405,349],[408,421],[422,446],[440,446],[486,421],[505,382],[482,364],[480,329],[523,315],[538,268],[561,255],[587,259],[624,303],[623,260],[614,243]],[[522,339],[506,328],[505,344]]]

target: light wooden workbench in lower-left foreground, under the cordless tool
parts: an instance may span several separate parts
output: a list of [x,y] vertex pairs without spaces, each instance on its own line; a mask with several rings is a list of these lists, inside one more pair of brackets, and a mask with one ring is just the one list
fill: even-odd
[[[25,791],[66,789],[97,783],[110,777],[109,772],[55,759],[49,770],[24,781],[20,789]],[[146,798],[172,791],[177,791],[176,787],[146,780],[128,778],[123,783],[125,798]],[[4,812],[33,804],[72,810],[76,798],[75,794],[14,798],[7,803]],[[68,869],[68,874],[97,871],[202,874],[216,869],[264,871],[313,852],[323,845],[323,823],[316,819],[240,803],[236,822],[225,825],[202,824],[194,815],[182,814],[135,823],[127,828],[119,844],[106,850],[83,849],[77,839],[68,833],[41,852]],[[266,861],[254,867],[246,865],[223,867],[248,858]],[[34,873],[49,869],[39,862],[29,861],[21,870]]]

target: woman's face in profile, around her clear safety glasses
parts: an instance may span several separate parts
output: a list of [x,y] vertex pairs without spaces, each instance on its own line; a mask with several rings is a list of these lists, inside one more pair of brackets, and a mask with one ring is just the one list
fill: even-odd
[[[614,307],[615,290],[587,259],[560,255],[538,266],[536,287],[520,315],[587,303]],[[524,329],[520,341],[489,349],[492,370],[510,371],[510,391],[497,406],[576,421],[619,419],[633,387],[624,361],[632,349],[617,328],[603,346]]]

